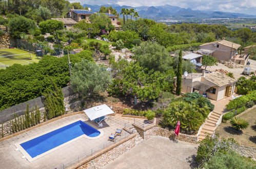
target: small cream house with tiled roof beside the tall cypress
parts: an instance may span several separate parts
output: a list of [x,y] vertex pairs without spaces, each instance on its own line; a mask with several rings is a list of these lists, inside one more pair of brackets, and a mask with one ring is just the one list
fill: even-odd
[[[175,86],[176,86],[176,77]],[[219,72],[190,73],[182,76],[182,94],[197,92],[212,100],[221,100],[234,92],[237,80]]]

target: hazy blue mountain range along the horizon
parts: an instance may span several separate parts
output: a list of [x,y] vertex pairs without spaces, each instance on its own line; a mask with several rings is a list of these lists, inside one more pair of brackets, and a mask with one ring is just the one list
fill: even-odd
[[194,17],[194,18],[235,18],[235,17],[256,17],[256,15],[248,15],[243,13],[230,13],[230,12],[218,12],[218,11],[201,11],[192,10],[190,8],[181,8],[171,5],[163,6],[141,6],[141,7],[131,7],[131,6],[120,6],[120,5],[88,5],[84,4],[84,7],[90,7],[93,12],[100,10],[101,6],[112,6],[116,9],[117,13],[121,12],[122,8],[134,8],[135,11],[139,12],[141,17],[144,18],[167,18],[167,17]]

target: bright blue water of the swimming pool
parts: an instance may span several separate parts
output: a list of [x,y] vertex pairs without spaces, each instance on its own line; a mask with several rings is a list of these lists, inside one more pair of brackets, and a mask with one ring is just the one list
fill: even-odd
[[101,132],[80,120],[24,142],[21,146],[34,158],[83,134],[89,137],[96,137],[99,136]]

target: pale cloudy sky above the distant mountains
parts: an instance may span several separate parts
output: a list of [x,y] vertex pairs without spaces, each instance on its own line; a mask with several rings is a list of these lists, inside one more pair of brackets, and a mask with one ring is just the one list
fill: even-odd
[[256,15],[256,0],[69,0],[82,5],[118,4],[133,7],[172,5],[193,10],[211,10]]

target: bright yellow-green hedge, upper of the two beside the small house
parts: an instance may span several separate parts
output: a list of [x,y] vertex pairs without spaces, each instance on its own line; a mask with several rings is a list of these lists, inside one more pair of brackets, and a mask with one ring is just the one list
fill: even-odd
[[239,98],[231,100],[227,104],[226,109],[227,110],[237,109],[250,101],[256,102],[256,91],[251,91],[247,95],[243,95]]

